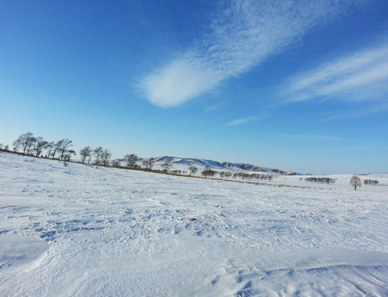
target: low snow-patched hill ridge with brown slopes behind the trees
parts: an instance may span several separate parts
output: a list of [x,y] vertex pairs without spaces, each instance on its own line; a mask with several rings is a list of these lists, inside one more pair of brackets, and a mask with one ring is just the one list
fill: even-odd
[[[141,162],[148,160],[149,158],[139,158],[138,165],[141,165]],[[189,166],[197,166],[198,169],[202,170],[205,166],[210,166],[212,170],[215,171],[233,171],[233,172],[254,172],[254,173],[268,173],[276,175],[299,175],[299,173],[292,171],[283,171],[280,169],[272,169],[263,166],[256,166],[246,163],[231,163],[231,162],[217,162],[213,160],[197,159],[191,157],[155,157],[155,166],[161,166],[165,162],[171,162],[173,164],[173,169],[188,169]]]

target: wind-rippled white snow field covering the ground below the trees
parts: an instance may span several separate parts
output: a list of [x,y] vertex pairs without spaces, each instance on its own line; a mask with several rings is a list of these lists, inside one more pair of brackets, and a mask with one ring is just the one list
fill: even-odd
[[0,296],[388,296],[385,175],[349,176],[301,189],[0,153]]

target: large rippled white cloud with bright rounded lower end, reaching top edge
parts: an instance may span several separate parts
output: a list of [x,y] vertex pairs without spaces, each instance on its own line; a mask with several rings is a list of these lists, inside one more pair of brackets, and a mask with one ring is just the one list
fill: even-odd
[[140,89],[152,104],[178,106],[281,52],[346,5],[334,0],[221,1],[209,33],[145,75]]

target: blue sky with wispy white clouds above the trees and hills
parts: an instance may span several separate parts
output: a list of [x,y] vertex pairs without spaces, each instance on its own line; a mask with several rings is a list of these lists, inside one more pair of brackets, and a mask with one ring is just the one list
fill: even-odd
[[0,143],[388,171],[388,1],[1,1]]

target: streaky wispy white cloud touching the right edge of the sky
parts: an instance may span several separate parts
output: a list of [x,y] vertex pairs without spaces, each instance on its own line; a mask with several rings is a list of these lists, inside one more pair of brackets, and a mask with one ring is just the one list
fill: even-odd
[[388,95],[388,42],[358,50],[290,78],[281,96],[290,102],[308,99],[362,101]]

